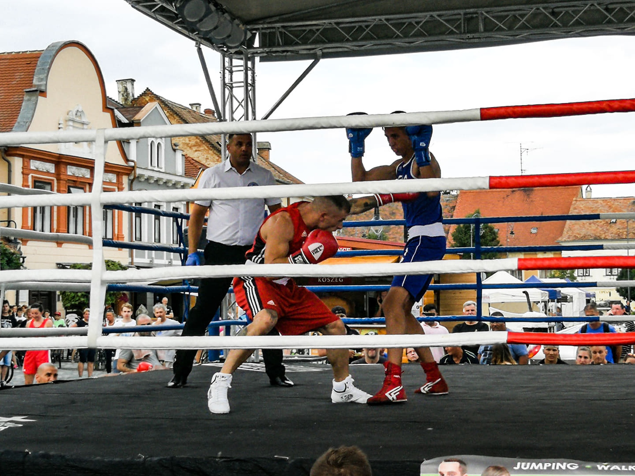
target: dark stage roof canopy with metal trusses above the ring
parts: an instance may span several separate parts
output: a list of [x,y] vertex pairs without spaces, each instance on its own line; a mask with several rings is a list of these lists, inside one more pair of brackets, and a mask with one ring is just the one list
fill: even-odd
[[635,1],[126,1],[214,50],[246,52],[262,61],[457,50],[635,33]]

